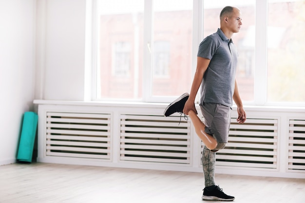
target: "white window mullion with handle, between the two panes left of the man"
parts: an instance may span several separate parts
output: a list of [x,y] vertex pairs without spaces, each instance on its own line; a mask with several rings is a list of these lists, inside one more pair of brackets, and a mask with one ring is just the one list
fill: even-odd
[[147,102],[152,97],[152,0],[144,3],[144,46],[143,46],[143,101]]

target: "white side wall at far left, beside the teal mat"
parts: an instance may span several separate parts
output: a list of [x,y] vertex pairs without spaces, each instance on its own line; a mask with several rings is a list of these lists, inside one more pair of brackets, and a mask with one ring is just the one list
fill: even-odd
[[0,0],[0,165],[16,160],[22,115],[34,98],[35,0]]

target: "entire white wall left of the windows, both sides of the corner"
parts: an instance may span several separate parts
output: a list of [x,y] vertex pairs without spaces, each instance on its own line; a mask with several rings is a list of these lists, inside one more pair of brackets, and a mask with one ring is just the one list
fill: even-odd
[[87,1],[0,0],[0,165],[16,162],[34,99],[84,99]]

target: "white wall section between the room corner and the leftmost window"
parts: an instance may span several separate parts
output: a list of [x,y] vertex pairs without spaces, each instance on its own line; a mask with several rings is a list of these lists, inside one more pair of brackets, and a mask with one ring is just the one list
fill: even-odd
[[86,0],[37,1],[37,99],[84,100]]

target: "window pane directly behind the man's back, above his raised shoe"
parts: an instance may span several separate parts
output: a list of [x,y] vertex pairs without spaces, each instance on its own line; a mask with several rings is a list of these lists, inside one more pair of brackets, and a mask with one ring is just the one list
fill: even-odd
[[[191,88],[192,2],[152,1],[153,97],[176,97]],[[147,91],[149,92],[149,91]]]

